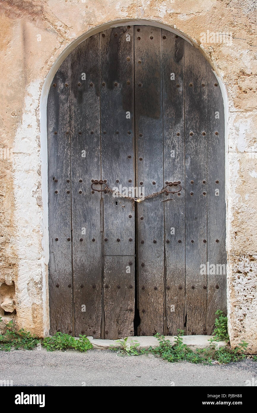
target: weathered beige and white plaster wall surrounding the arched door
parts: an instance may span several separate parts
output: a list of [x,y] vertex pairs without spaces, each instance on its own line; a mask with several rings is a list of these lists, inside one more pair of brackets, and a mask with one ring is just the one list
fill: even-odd
[[[0,283],[15,283],[19,325],[38,335],[49,328],[39,111],[45,78],[66,47],[87,31],[111,21],[144,19],[191,39],[226,88],[229,331],[232,345],[245,339],[256,353],[256,0],[2,0],[0,8],[0,148],[13,148],[12,159],[0,159]],[[201,43],[207,30],[231,32],[233,38]]]

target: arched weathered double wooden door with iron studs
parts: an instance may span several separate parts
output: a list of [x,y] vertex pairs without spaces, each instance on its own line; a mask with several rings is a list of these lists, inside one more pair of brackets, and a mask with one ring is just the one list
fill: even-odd
[[[226,310],[224,107],[203,55],[152,26],[98,33],[57,71],[47,130],[51,332],[211,334]],[[182,189],[139,203],[100,179]]]

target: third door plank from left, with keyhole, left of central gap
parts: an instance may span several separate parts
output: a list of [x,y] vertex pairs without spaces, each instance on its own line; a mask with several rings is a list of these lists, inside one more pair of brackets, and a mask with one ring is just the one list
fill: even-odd
[[[102,179],[110,188],[127,195],[134,188],[134,54],[133,28],[109,29],[100,34]],[[131,194],[133,195],[133,194]],[[120,292],[111,287],[104,294],[105,337],[133,334],[134,278],[129,294],[123,256],[134,256],[133,203],[111,193],[104,195],[104,277],[108,285],[120,280]],[[108,258],[107,258],[108,256]],[[114,271],[111,268],[116,268]],[[113,304],[117,311],[113,311]],[[112,309],[110,311],[110,309]],[[123,309],[123,310],[121,310]],[[125,309],[133,309],[125,311]],[[121,318],[120,318],[121,317]],[[123,323],[121,323],[123,320]],[[108,333],[107,333],[108,332]],[[114,336],[111,336],[114,335]]]

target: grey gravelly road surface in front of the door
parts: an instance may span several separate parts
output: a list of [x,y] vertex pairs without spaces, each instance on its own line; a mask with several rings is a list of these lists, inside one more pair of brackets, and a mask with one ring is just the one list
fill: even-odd
[[[254,378],[254,379],[252,379]],[[110,350],[0,351],[0,380],[13,386],[245,386],[257,363],[168,363],[153,355],[120,357]]]

